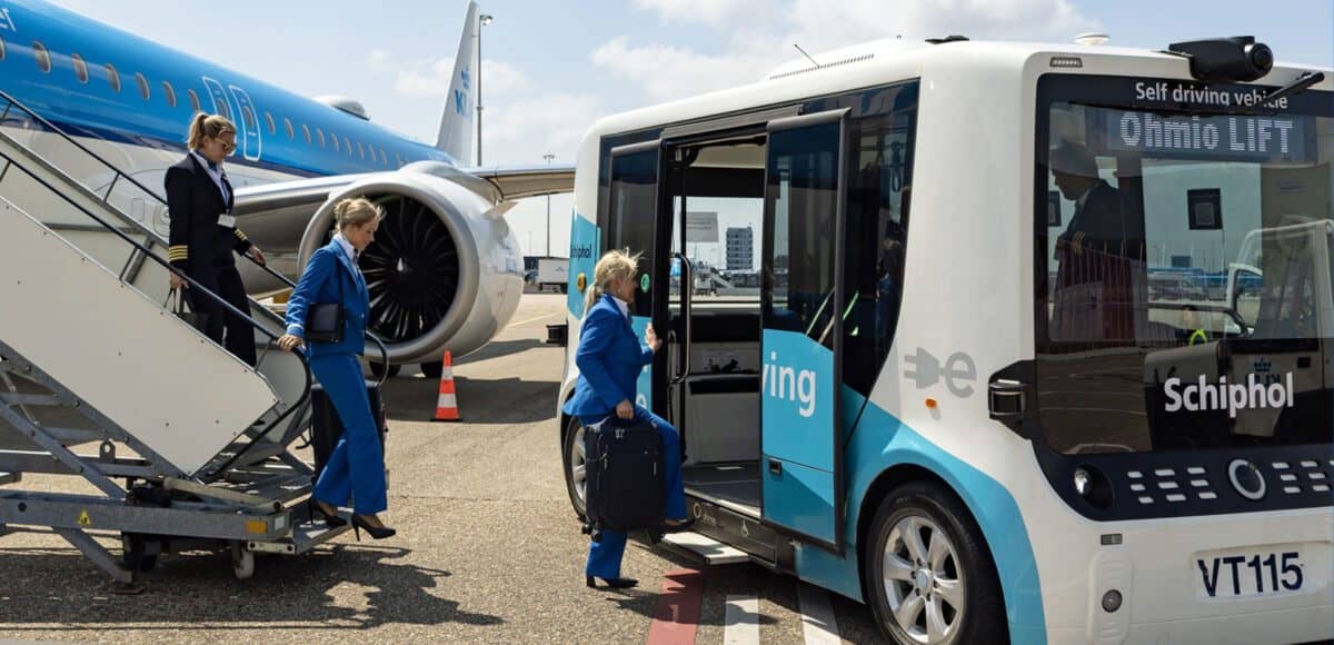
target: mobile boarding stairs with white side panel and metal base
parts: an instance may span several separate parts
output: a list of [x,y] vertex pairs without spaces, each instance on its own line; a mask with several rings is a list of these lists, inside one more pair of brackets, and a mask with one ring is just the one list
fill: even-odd
[[[347,530],[293,505],[313,478],[289,449],[312,381],[273,346],[281,318],[231,310],[255,326],[256,369],[173,315],[164,200],[4,92],[0,110],[0,535],[53,530],[137,592],[161,552],[229,548],[244,578],[256,552]],[[17,489],[45,475],[96,493]]]

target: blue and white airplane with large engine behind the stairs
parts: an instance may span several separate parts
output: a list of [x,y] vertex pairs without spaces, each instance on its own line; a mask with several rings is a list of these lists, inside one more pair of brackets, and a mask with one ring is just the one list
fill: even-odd
[[[446,350],[459,357],[490,342],[518,307],[523,256],[504,212],[515,199],[574,188],[572,166],[467,166],[475,1],[463,25],[434,146],[374,123],[356,100],[299,96],[41,0],[0,0],[0,89],[157,195],[185,152],[191,116],[227,116],[237,128],[227,162],[237,226],[289,279],[327,242],[334,203],[380,203],[387,216],[362,256],[370,329],[390,363],[420,363],[430,375]],[[25,128],[25,118],[8,111],[0,127]],[[36,136],[35,150],[63,167],[68,144]],[[165,235],[164,208],[151,219]],[[255,296],[285,287],[239,264]]]

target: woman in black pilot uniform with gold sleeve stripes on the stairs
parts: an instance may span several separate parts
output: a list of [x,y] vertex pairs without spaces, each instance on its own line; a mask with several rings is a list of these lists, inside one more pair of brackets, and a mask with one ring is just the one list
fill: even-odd
[[[165,179],[171,212],[167,259],[175,268],[171,288],[188,287],[181,278],[188,275],[232,307],[248,312],[245,284],[232,252],[247,254],[260,264],[264,254],[236,228],[232,215],[232,184],[223,172],[223,160],[236,150],[236,126],[225,118],[199,112],[189,122],[185,144],[189,152],[167,168]],[[192,296],[188,290],[184,294],[191,308],[205,315],[201,331],[236,358],[255,365],[255,329],[249,320],[227,312],[212,298]]]

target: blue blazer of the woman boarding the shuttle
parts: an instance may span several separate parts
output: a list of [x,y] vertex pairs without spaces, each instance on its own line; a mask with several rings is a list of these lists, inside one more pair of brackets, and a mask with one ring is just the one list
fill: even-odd
[[616,403],[635,401],[635,382],[646,365],[654,362],[654,350],[639,342],[630,319],[620,315],[616,300],[604,294],[588,310],[579,329],[575,365],[579,382],[575,395],[563,407],[575,417],[606,417]]

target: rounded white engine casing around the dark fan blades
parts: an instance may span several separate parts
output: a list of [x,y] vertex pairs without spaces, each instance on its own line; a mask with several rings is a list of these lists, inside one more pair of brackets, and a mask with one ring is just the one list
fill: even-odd
[[368,329],[386,342],[391,363],[480,349],[508,325],[523,292],[523,255],[502,216],[507,207],[442,176],[450,171],[414,166],[329,192],[297,248],[304,267],[331,239],[334,204],[343,198],[366,196],[384,208],[360,267],[371,291]]

